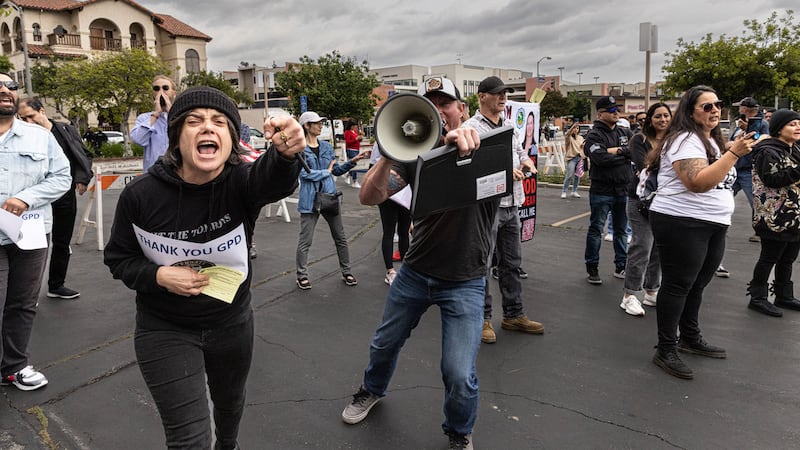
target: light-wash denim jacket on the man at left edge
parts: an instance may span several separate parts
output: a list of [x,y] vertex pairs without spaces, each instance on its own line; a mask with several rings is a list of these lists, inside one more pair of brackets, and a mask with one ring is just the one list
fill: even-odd
[[[45,231],[49,233],[53,226],[50,203],[71,185],[69,160],[53,133],[14,119],[8,132],[0,137],[0,204],[14,197],[27,203],[29,210],[43,210]],[[11,243],[0,233],[0,245]]]

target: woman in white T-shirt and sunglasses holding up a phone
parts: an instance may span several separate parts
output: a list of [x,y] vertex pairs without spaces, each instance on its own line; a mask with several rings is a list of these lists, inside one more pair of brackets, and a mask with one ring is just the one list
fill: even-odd
[[725,233],[734,208],[734,164],[750,153],[753,133],[738,137],[722,153],[721,109],[722,102],[712,88],[689,89],[648,164],[658,167],[658,193],[650,206],[650,225],[662,272],[653,363],[683,379],[694,374],[678,351],[710,358],[727,356],[725,349],[703,339],[698,316],[703,290],[725,252]]

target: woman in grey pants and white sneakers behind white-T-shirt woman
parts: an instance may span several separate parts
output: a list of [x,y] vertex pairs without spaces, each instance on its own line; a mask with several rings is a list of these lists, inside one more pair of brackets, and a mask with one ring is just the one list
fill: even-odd
[[[628,185],[628,225],[631,227],[631,242],[628,244],[628,259],[625,262],[625,289],[619,307],[632,316],[643,316],[642,304],[656,306],[656,294],[661,284],[661,265],[658,250],[653,241],[653,232],[647,217],[639,212],[638,172],[644,170],[648,153],[657,148],[672,119],[672,111],[666,103],[654,103],[647,110],[641,132],[631,139],[631,161],[637,176]],[[644,299],[639,302],[636,293],[644,290]]]

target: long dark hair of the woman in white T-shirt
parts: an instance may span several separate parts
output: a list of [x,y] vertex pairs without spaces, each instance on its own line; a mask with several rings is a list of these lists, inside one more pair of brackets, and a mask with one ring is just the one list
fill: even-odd
[[675,140],[678,138],[678,136],[683,133],[695,134],[698,138],[700,138],[700,141],[703,143],[703,147],[706,149],[706,157],[708,158],[709,164],[717,160],[717,152],[711,145],[711,140],[717,144],[717,147],[720,150],[725,148],[725,141],[722,138],[722,132],[719,129],[719,125],[711,130],[711,140],[709,140],[703,132],[703,128],[700,126],[700,124],[695,122],[694,118],[692,118],[695,105],[697,104],[697,99],[706,92],[711,92],[713,94],[717,93],[717,91],[709,86],[699,85],[690,88],[685,94],[683,94],[681,101],[678,103],[678,108],[675,110],[675,114],[672,115],[672,120],[669,122],[667,135],[664,137],[664,140],[661,141],[661,144],[657,147],[656,151],[651,151],[650,154],[647,155],[646,165],[649,169],[658,170],[658,167],[661,164],[661,156],[668,148],[672,146],[672,144],[675,143]]

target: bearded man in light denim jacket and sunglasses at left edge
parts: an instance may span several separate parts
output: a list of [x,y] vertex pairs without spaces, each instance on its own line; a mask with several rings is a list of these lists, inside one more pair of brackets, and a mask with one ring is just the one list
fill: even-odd
[[[50,233],[50,203],[70,188],[69,161],[46,129],[16,119],[19,85],[0,73],[0,208],[2,215],[38,210]],[[12,239],[14,238],[14,239]],[[38,389],[47,378],[28,364],[28,340],[47,261],[47,247],[23,250],[15,236],[0,231],[0,384],[23,391]]]

